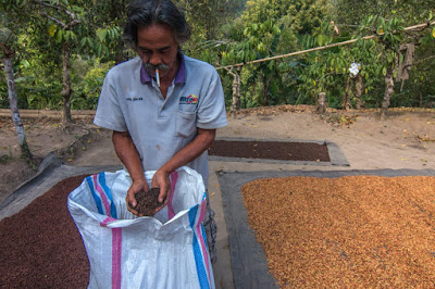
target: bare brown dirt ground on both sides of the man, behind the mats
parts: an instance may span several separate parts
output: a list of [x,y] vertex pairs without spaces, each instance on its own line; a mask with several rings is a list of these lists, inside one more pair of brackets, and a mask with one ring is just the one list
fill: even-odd
[[[307,105],[248,109],[228,115],[228,126],[219,129],[217,137],[327,139],[339,146],[350,168],[435,168],[435,110],[394,109],[384,121],[377,114],[330,110],[319,115]],[[71,165],[113,165],[116,160],[111,133],[95,126],[91,116],[70,126],[59,118],[22,118],[36,164],[20,159],[12,121],[0,117],[0,202],[34,176],[50,152]],[[108,158],[101,159],[101,150]]]

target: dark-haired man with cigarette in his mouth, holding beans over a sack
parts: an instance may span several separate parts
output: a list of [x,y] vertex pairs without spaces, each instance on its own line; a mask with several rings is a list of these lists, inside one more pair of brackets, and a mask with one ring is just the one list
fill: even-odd
[[[158,210],[167,203],[170,174],[183,165],[199,172],[207,188],[207,150],[227,122],[221,79],[210,64],[183,54],[190,30],[170,0],[132,2],[124,35],[139,56],[105,76],[95,124],[113,130],[115,152],[132,177],[126,202],[137,214],[134,196],[149,190],[144,171],[157,171],[151,187],[160,188]],[[214,262],[214,213],[208,209],[204,227]]]

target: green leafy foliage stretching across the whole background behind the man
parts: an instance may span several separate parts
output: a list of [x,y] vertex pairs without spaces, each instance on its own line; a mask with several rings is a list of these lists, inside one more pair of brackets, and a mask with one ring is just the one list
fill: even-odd
[[[38,2],[47,5],[41,8]],[[407,43],[415,45],[413,65],[408,80],[395,83],[391,105],[435,105],[435,87],[431,83],[435,79],[432,68],[435,28],[402,32],[410,25],[433,22],[435,0],[424,3],[421,0],[176,0],[175,3],[185,12],[192,29],[191,41],[184,46],[184,51],[216,67],[358,39],[349,46],[241,65],[238,71],[241,106],[314,104],[318,95],[326,92],[328,105],[341,108],[348,92],[349,67],[358,63],[362,102],[366,108],[378,108],[385,90],[384,77],[403,61],[399,50]],[[126,4],[127,0],[1,2],[0,42],[8,40],[16,51],[14,70],[20,108],[61,108],[60,51],[67,42],[72,60],[71,105],[95,109],[105,72],[133,55],[121,39]],[[50,10],[49,5],[60,9]],[[74,13],[79,25],[65,29],[53,20],[66,23],[66,10]],[[363,39],[371,35],[377,37]],[[225,70],[219,72],[229,105],[233,77]],[[1,108],[9,105],[7,93],[1,77]],[[350,104],[356,105],[356,101],[351,97]]]

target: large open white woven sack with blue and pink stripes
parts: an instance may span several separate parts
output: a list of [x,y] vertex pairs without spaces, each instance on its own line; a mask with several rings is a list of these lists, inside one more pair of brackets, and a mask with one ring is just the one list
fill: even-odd
[[[153,174],[145,173],[148,183]],[[214,288],[202,177],[184,166],[171,183],[169,204],[154,217],[127,211],[132,179],[124,169],[89,176],[70,193],[90,264],[88,288]]]

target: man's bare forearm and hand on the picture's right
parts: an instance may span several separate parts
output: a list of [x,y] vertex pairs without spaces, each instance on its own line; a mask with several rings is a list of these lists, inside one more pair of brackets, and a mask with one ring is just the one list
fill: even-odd
[[163,202],[162,206],[167,203],[166,197],[171,190],[171,173],[201,155],[202,152],[210,148],[215,135],[216,129],[198,128],[198,135],[156,172],[151,186],[160,188],[159,202]]

